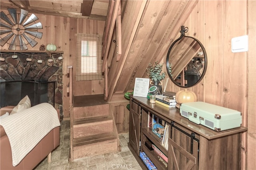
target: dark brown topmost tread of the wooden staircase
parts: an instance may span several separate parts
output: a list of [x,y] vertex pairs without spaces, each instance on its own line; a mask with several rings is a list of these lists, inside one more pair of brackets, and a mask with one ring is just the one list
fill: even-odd
[[74,107],[83,107],[83,106],[96,106],[108,104],[104,100],[104,94],[94,94],[94,95],[84,95],[84,96],[74,96]]

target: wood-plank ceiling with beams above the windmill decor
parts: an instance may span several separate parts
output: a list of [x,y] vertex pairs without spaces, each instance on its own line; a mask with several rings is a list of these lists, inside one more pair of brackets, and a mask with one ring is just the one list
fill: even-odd
[[1,10],[24,9],[30,13],[106,21],[108,0],[1,0]]

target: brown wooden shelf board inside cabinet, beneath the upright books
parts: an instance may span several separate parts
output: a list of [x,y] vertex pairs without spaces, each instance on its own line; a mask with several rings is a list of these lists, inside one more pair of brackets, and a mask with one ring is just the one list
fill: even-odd
[[168,150],[166,150],[160,142],[160,138],[158,138],[148,127],[142,128],[142,133],[150,140],[158,149],[160,149],[166,156],[168,155]]

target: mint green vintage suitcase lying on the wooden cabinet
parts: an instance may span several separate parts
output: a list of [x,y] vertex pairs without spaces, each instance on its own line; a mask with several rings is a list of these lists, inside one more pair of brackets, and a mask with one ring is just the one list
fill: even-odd
[[205,102],[182,103],[180,115],[214,131],[224,131],[242,125],[241,112]]

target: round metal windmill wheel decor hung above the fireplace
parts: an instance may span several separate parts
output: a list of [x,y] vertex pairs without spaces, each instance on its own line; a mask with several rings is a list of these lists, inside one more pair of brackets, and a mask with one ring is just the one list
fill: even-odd
[[34,47],[37,44],[35,39],[42,38],[43,33],[38,32],[38,29],[43,28],[42,23],[36,23],[38,18],[34,14],[29,16],[28,11],[23,9],[20,13],[14,8],[8,9],[8,12],[7,15],[4,12],[0,14],[0,45],[3,47],[8,43],[9,50],[16,50],[18,47],[20,50],[27,50],[28,44]]

